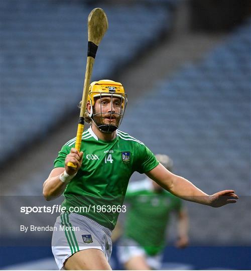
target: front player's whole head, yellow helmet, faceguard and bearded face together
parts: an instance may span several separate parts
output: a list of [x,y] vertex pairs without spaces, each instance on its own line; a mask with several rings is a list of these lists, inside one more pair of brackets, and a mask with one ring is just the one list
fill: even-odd
[[[95,110],[97,100],[100,107]],[[111,133],[119,127],[127,106],[127,94],[121,83],[111,80],[92,82],[88,101],[91,107],[90,112],[87,111],[88,116],[102,132]]]

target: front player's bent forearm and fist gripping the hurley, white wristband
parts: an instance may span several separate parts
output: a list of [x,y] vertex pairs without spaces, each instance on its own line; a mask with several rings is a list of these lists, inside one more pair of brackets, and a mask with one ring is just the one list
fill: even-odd
[[[55,168],[44,182],[43,195],[46,200],[53,200],[64,192],[66,185],[77,174],[82,165],[83,152],[78,153],[74,148],[65,158],[64,168]],[[77,168],[68,167],[68,162],[72,162]],[[69,176],[69,177],[67,177]]]

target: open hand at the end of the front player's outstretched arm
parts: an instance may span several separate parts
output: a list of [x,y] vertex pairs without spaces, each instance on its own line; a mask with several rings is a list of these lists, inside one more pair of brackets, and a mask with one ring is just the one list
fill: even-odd
[[224,190],[209,196],[208,205],[212,207],[221,207],[228,203],[235,203],[237,199],[238,196],[234,194],[233,190]]

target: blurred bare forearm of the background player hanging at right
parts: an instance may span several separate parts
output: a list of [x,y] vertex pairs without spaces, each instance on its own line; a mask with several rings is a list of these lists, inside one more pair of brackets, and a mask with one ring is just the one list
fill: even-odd
[[183,248],[188,245],[188,213],[186,208],[181,208],[177,211],[178,216],[178,240],[176,246],[178,248]]

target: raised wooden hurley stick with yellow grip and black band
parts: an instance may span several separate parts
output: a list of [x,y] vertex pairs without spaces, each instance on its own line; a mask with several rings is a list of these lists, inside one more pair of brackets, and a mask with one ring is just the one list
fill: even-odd
[[[81,101],[80,115],[78,121],[77,137],[75,149],[80,151],[82,133],[84,130],[84,115],[86,110],[86,102],[88,96],[88,88],[92,74],[92,68],[99,43],[101,42],[106,30],[108,29],[108,21],[104,11],[100,8],[92,10],[88,16],[88,50],[87,62],[84,78],[83,96]],[[76,168],[73,163],[68,162],[68,167]]]

